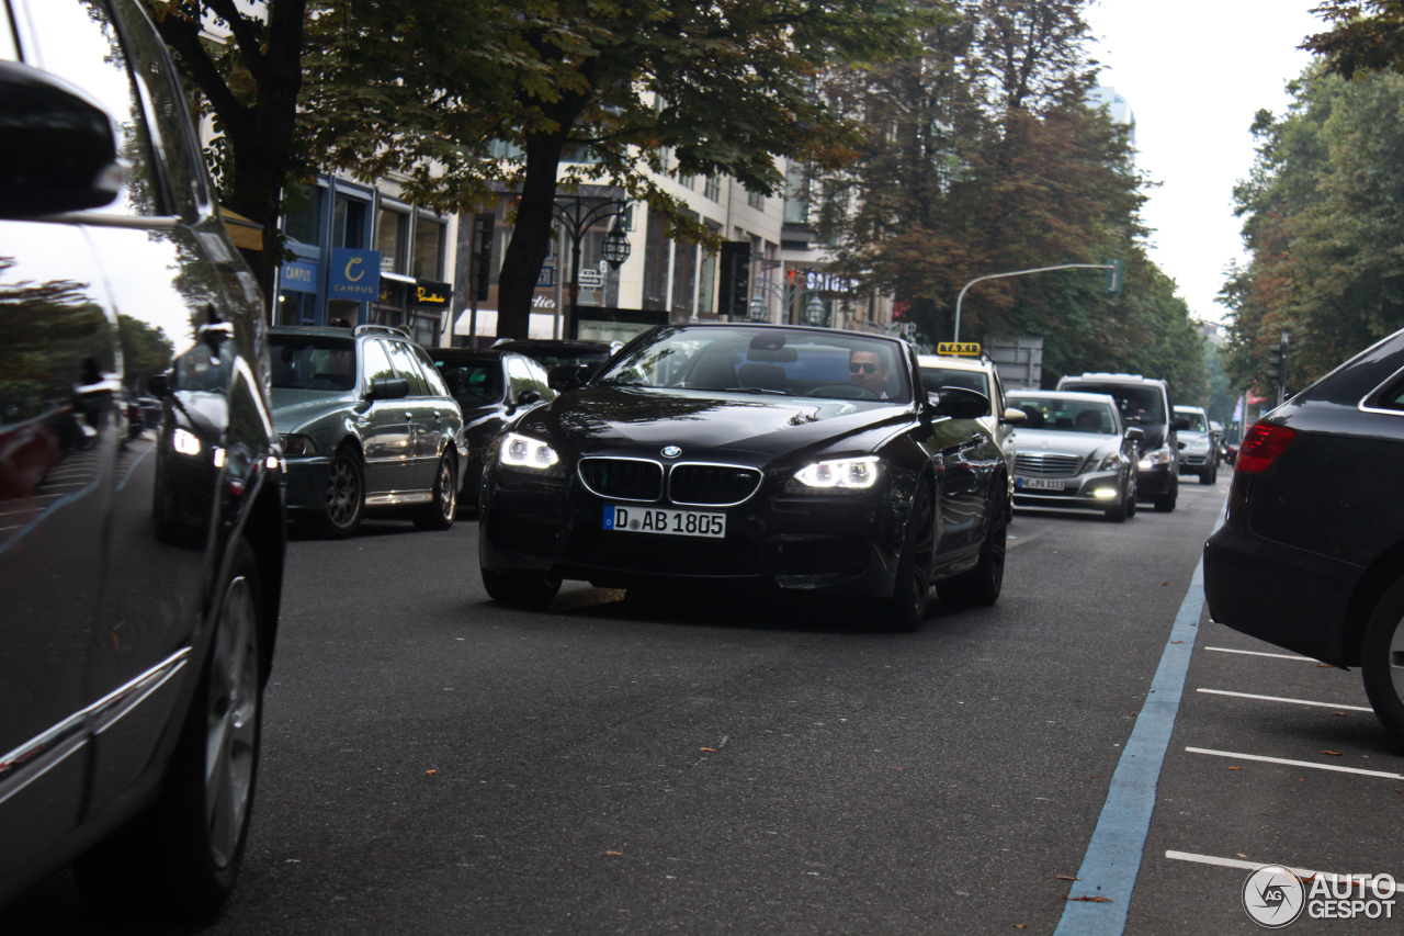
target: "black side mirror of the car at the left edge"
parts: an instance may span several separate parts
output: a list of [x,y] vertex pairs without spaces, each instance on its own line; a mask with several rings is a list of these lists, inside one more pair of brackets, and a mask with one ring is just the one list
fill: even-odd
[[101,208],[122,191],[112,118],[67,82],[0,62],[0,218]]

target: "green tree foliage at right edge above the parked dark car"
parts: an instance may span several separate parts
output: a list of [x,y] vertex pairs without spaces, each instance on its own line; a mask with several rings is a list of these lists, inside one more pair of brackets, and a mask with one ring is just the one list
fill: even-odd
[[1227,370],[1265,396],[1268,346],[1290,333],[1302,389],[1404,327],[1404,76],[1345,82],[1310,67],[1292,104],[1252,125],[1258,157],[1234,190],[1247,264],[1230,270]]

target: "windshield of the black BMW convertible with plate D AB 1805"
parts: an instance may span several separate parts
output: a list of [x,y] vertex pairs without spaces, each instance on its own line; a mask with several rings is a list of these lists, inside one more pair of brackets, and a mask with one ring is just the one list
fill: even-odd
[[907,403],[901,346],[851,332],[667,326],[598,384]]

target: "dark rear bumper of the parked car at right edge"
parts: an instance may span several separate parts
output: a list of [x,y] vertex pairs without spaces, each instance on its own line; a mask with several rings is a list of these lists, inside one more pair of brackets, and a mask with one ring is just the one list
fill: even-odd
[[1355,663],[1345,616],[1365,569],[1224,524],[1205,544],[1205,597],[1220,624],[1334,666]]

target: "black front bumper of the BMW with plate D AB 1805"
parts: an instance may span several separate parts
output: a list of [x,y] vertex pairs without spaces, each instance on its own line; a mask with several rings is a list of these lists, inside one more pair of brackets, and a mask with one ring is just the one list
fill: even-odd
[[483,475],[479,557],[497,572],[536,571],[602,587],[647,580],[734,582],[792,592],[889,597],[907,502],[890,483],[861,495],[785,495],[767,478],[726,514],[726,537],[680,537],[604,528],[605,505],[578,476],[534,478],[490,467]]

